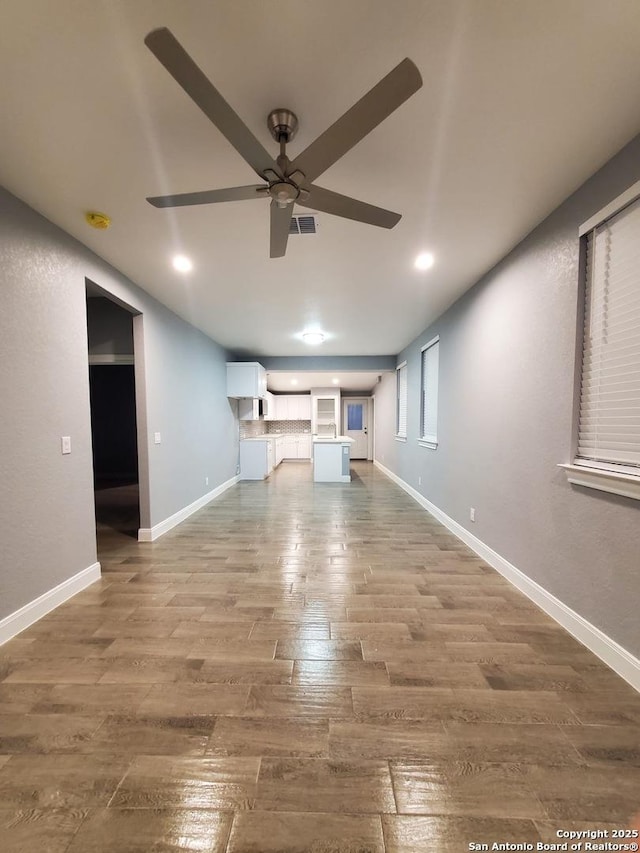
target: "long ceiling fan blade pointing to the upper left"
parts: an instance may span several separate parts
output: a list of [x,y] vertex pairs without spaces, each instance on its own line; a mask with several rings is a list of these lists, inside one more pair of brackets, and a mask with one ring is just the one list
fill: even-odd
[[144,43],[260,177],[265,169],[279,172],[271,155],[166,27],[150,32]]

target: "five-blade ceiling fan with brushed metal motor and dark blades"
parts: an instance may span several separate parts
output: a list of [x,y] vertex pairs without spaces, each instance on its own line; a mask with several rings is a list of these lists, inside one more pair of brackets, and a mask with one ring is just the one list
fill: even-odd
[[420,72],[410,59],[403,59],[295,160],[287,157],[286,147],[296,133],[298,119],[291,110],[272,110],[267,124],[271,135],[280,145],[280,153],[274,160],[166,27],[153,30],[144,41],[169,74],[264,181],[263,184],[246,187],[148,198],[147,201],[154,207],[182,207],[269,197],[272,258],[281,258],[286,252],[294,202],[302,207],[381,228],[393,228],[400,221],[399,213],[323,189],[313,181],[422,86]]

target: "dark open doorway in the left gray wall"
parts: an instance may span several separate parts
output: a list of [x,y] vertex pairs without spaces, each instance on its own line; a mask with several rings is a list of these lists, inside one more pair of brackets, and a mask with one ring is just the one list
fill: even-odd
[[89,394],[99,557],[140,527],[136,378],[131,311],[87,282]]

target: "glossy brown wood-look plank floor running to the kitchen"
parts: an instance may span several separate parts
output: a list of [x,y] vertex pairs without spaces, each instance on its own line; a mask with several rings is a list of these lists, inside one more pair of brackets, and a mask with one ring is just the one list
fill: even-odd
[[103,580],[0,648],[3,853],[462,853],[630,825],[640,696],[353,471],[286,463],[156,543],[107,537]]

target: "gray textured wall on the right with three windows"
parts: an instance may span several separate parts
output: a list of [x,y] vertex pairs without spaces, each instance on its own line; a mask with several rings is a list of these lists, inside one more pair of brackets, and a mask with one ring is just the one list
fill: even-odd
[[[395,377],[375,395],[376,458],[636,656],[640,502],[571,486],[557,464],[572,446],[578,226],[638,180],[640,137],[398,356],[406,443],[393,438]],[[436,334],[434,451],[417,438],[420,347]]]

